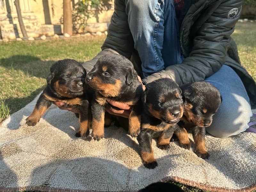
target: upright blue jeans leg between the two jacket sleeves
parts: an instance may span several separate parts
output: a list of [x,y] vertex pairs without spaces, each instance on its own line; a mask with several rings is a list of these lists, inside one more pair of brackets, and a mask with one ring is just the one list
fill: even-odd
[[172,0],[126,0],[126,13],[144,77],[182,62]]

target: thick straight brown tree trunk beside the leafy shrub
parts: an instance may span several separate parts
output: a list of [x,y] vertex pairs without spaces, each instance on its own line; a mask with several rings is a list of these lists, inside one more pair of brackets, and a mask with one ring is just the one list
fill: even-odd
[[63,32],[72,35],[71,0],[63,0]]

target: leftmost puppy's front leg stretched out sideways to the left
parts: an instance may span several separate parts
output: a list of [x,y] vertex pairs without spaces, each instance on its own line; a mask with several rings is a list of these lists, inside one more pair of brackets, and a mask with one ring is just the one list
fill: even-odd
[[39,99],[36,102],[36,106],[33,112],[26,119],[26,124],[28,126],[35,126],[40,118],[43,116],[45,111],[52,105],[52,102],[47,100],[44,96],[44,92],[40,95]]

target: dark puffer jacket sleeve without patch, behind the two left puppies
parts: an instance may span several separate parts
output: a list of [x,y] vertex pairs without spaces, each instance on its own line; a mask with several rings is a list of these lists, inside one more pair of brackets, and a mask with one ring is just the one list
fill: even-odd
[[92,60],[83,64],[86,71],[91,71],[97,60],[108,53],[115,52],[130,59],[134,47],[132,34],[128,24],[128,15],[125,11],[125,1],[115,0],[114,13],[108,26],[108,35],[101,47],[101,52]]

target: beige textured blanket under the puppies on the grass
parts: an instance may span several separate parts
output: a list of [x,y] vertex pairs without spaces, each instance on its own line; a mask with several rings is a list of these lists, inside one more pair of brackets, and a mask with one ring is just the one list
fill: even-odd
[[211,191],[256,188],[255,133],[227,139],[207,135],[207,160],[175,142],[163,151],[153,141],[158,167],[149,170],[140,160],[137,140],[123,128],[105,128],[105,139],[84,141],[75,137],[75,115],[54,105],[28,127],[25,119],[37,99],[1,124],[0,191],[137,191],[159,180]]

